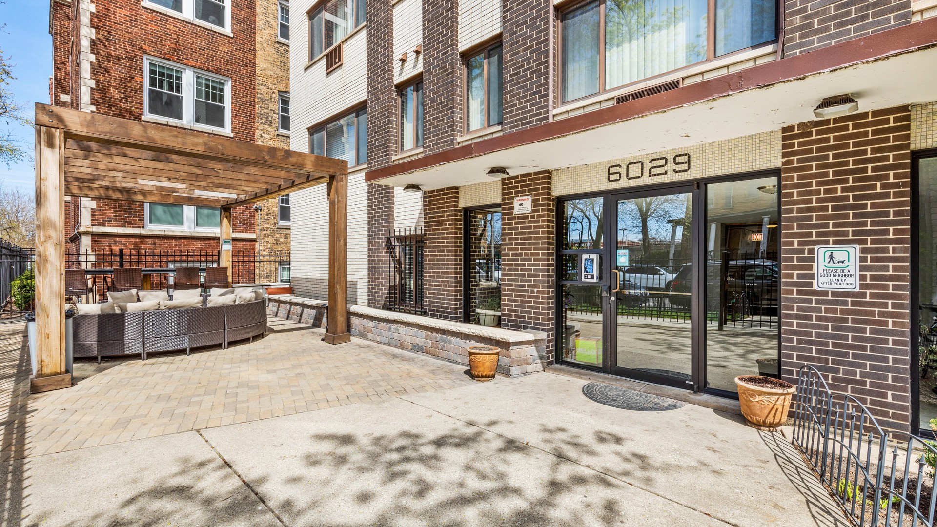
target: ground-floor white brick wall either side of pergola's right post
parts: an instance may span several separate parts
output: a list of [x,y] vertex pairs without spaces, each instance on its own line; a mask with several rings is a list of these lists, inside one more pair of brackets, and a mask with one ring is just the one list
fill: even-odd
[[[367,305],[367,189],[364,171],[349,174],[350,304]],[[292,193],[290,282],[293,294],[327,299],[329,201],[325,185]]]

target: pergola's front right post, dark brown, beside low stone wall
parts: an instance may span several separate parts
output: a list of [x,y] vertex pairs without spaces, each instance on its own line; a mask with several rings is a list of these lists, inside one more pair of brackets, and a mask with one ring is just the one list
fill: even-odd
[[351,340],[348,319],[348,174],[329,177],[329,310],[325,341],[341,344]]

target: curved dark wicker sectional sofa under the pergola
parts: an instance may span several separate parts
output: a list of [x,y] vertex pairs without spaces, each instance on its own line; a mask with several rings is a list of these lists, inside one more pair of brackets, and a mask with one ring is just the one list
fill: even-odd
[[75,315],[75,357],[176,352],[253,339],[267,331],[266,298],[230,306]]

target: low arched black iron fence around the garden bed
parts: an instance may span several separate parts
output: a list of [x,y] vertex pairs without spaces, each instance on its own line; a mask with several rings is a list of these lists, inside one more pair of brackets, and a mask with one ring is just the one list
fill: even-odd
[[937,444],[883,429],[811,366],[800,368],[796,389],[792,442],[847,518],[861,527],[934,527]]

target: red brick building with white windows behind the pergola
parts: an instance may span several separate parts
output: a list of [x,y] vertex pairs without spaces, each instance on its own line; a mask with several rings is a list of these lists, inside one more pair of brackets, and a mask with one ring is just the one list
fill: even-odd
[[[288,3],[52,0],[51,8],[53,105],[287,145]],[[152,170],[145,157],[138,165]],[[95,177],[90,167],[85,172]],[[132,189],[114,189],[113,200],[69,201],[70,253],[100,260],[120,249],[217,252],[217,209],[126,202],[122,193]],[[279,250],[289,261],[289,197],[283,202],[236,208],[233,250]]]

